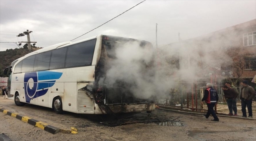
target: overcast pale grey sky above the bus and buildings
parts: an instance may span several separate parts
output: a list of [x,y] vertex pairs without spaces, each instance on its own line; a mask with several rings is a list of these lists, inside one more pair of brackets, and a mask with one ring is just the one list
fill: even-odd
[[[47,47],[70,41],[107,22],[143,0],[0,0],[0,42],[27,41],[16,37],[33,31],[31,42]],[[195,38],[256,18],[256,0],[146,0],[107,24],[74,40],[99,34],[156,43],[158,46]],[[23,47],[24,43],[21,45]],[[15,49],[0,43],[0,51]]]

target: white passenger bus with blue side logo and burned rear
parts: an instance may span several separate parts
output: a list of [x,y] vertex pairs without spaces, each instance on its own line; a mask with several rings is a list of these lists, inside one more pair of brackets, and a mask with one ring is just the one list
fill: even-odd
[[17,106],[30,103],[53,108],[57,114],[63,111],[113,114],[154,110],[154,101],[137,98],[127,89],[130,84],[125,81],[113,86],[104,83],[108,65],[116,59],[115,48],[127,42],[152,48],[150,42],[142,40],[98,35],[26,54],[4,69],[4,74],[9,74],[9,99]]

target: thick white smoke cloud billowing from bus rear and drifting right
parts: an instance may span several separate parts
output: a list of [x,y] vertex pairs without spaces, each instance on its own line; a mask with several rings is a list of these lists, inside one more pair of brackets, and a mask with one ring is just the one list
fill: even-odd
[[205,73],[219,71],[222,64],[232,63],[227,52],[241,43],[238,34],[232,31],[232,34],[203,36],[158,49],[143,48],[137,42],[116,46],[117,58],[109,61],[105,83],[111,86],[122,80],[131,84],[130,91],[137,98],[163,98],[178,83],[198,82]]

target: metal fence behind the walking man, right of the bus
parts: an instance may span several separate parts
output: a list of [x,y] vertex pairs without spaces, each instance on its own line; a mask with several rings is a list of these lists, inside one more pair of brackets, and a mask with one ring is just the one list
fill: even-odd
[[[156,104],[164,107],[175,107],[192,111],[205,111],[207,105],[201,104],[204,96],[204,90],[207,83],[179,83],[178,87],[171,89],[168,96],[160,98]],[[213,83],[213,89],[216,89],[219,96],[219,102],[225,102],[223,91],[221,89],[222,82]],[[217,111],[217,107],[215,107]]]

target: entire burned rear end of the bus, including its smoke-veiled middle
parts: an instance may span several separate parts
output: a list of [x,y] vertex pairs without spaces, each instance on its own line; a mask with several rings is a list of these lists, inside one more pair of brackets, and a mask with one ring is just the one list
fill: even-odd
[[93,88],[100,111],[95,114],[154,110],[154,97],[147,92],[155,76],[153,52],[150,42],[102,36]]

